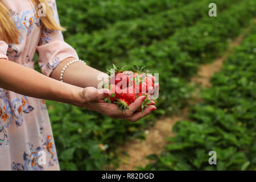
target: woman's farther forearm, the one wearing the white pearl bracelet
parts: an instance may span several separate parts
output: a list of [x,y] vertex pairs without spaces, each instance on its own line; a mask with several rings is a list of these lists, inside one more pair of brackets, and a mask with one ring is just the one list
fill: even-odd
[[[69,57],[61,61],[61,63],[53,70],[50,77],[55,78],[56,80],[60,80],[60,73],[61,70],[67,65],[69,61],[75,60],[74,57]],[[98,75],[105,73],[98,71],[88,65],[82,63],[73,63],[65,69],[63,75],[63,81],[67,82],[68,84],[80,86],[85,88],[87,86],[93,86],[97,88],[98,84],[102,80],[98,80]]]

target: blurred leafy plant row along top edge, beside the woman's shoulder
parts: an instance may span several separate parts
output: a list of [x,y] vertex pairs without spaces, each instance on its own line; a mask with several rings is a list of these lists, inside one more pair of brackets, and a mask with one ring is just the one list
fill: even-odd
[[[167,9],[181,7],[189,0],[76,0],[62,1],[58,4],[61,23],[68,27],[65,35],[69,36],[77,32],[92,32],[101,28],[108,28],[112,23],[155,14]],[[74,21],[75,19],[75,21]]]

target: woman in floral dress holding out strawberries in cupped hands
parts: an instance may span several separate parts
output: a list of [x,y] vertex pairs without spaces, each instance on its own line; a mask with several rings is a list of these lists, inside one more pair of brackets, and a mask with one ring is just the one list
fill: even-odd
[[[78,61],[75,49],[64,42],[55,0],[1,1],[0,25],[1,170],[60,169],[44,99],[128,121],[156,109],[135,112],[144,96],[125,114],[103,101],[110,93],[96,89],[102,72]],[[43,75],[34,70],[35,51]]]

